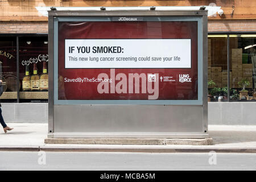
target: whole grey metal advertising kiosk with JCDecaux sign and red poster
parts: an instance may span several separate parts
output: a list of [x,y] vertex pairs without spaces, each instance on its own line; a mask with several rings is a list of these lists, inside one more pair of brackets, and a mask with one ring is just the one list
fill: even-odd
[[48,18],[48,138],[208,138],[206,10]]

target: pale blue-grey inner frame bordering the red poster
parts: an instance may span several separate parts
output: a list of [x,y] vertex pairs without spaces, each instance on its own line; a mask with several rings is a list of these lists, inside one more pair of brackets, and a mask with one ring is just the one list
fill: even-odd
[[[203,88],[203,74],[201,74],[201,71],[203,70],[203,56],[201,57],[200,55],[202,55],[201,51],[203,51],[202,49],[200,49],[200,47],[203,47],[203,45],[201,45],[201,43],[203,42],[203,34],[201,34],[201,29],[203,30],[203,26],[202,26],[202,22],[203,20],[195,18],[195,17],[191,17],[191,16],[187,16],[187,17],[179,17],[177,18],[177,16],[174,16],[171,18],[169,18],[170,16],[168,16],[168,20],[167,21],[196,21],[198,24],[198,97],[197,100],[58,100],[58,92],[57,92],[57,76],[58,76],[58,69],[57,69],[57,65],[58,65],[58,47],[57,45],[53,45],[53,51],[55,52],[55,55],[53,57],[53,59],[55,60],[55,62],[53,63],[53,80],[55,80],[55,87],[53,88],[53,98],[54,98],[54,104],[55,105],[77,105],[77,104],[104,104],[104,105],[203,105],[203,92],[201,92],[201,88]],[[159,18],[155,18],[155,17],[146,17],[147,19],[150,18],[152,21],[154,20],[159,20],[162,19],[162,21],[166,21],[165,16],[159,16]],[[58,23],[59,22],[76,22],[76,21],[88,21],[88,22],[94,22],[94,21],[106,21],[109,22],[110,18],[108,17],[100,17],[100,18],[95,18],[95,17],[75,17],[75,18],[71,18],[71,17],[67,17],[67,18],[63,18],[63,17],[56,17],[55,19],[53,19],[53,36],[54,36],[54,40],[55,42],[57,42],[58,40]],[[150,21],[151,21],[150,20]],[[178,69],[178,68],[177,68]]]

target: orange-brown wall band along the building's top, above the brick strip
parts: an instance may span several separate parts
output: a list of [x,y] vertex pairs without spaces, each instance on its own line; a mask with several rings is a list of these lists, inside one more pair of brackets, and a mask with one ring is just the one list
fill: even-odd
[[0,20],[47,20],[36,10],[38,6],[208,6],[210,3],[224,10],[224,15],[211,19],[256,19],[255,0],[0,0]]

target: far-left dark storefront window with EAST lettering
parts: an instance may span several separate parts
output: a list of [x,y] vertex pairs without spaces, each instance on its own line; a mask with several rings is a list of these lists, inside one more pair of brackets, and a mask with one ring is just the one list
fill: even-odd
[[16,102],[16,37],[0,36],[0,79],[3,81],[1,102]]

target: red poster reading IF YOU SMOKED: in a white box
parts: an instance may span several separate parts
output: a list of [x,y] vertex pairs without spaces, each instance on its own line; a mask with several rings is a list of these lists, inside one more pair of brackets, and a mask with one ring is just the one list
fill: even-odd
[[59,100],[197,100],[197,22],[59,22]]

